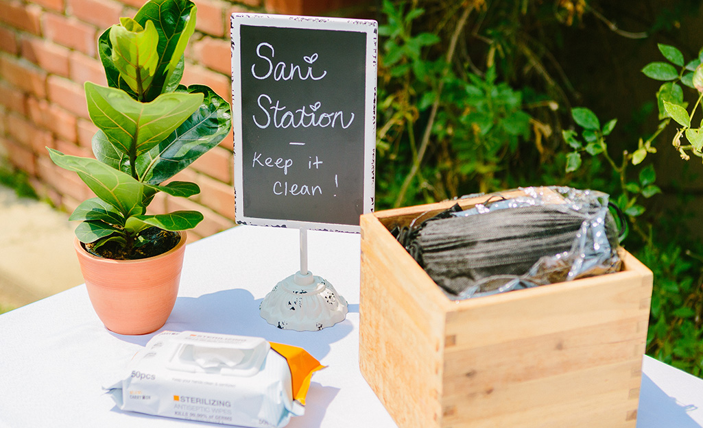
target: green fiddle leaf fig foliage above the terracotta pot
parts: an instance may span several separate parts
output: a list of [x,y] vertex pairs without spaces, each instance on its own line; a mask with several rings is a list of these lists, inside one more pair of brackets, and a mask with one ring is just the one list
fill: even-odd
[[93,252],[142,258],[148,236],[192,229],[203,219],[191,210],[146,214],[157,192],[184,198],[200,192],[195,183],[168,180],[231,127],[228,103],[211,88],[179,84],[196,11],[190,0],[151,0],[134,19],[120,18],[103,32],[98,51],[108,86],[85,83],[98,127],[95,159],[49,149],[56,165],[77,173],[96,195],[70,216],[81,222],[76,236]]

